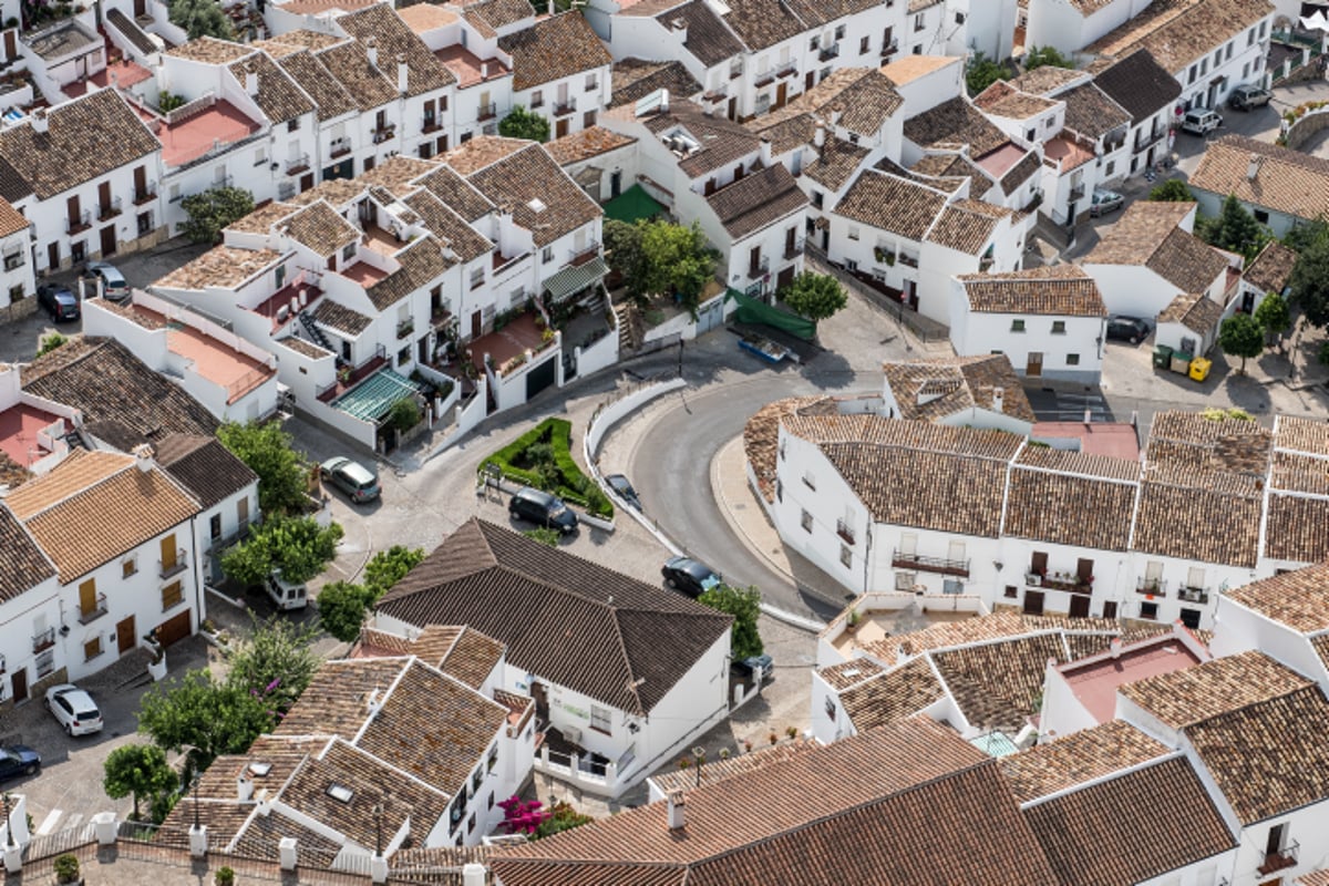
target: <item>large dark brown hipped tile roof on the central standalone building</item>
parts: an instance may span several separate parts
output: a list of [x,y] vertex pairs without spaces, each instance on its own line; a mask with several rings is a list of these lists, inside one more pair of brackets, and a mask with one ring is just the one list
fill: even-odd
[[[526,616],[512,619],[513,607]],[[379,608],[413,624],[473,626],[508,647],[513,667],[641,715],[730,630],[728,616],[694,600],[480,521],[449,535]],[[661,656],[666,639],[674,652]]]

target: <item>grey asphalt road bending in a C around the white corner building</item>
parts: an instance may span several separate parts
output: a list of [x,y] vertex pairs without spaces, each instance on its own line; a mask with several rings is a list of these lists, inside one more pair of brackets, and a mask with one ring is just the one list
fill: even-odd
[[[831,377],[833,376],[833,377]],[[773,571],[730,527],[711,491],[710,466],[724,444],[743,433],[758,409],[781,397],[872,391],[870,375],[817,373],[781,367],[740,380],[715,380],[668,396],[663,409],[639,432],[627,476],[646,502],[649,515],[688,554],[727,580],[755,584],[771,606],[821,620],[844,607],[847,590],[797,554],[791,554],[797,582]],[[659,513],[650,502],[668,502]],[[754,502],[752,507],[758,507]]]

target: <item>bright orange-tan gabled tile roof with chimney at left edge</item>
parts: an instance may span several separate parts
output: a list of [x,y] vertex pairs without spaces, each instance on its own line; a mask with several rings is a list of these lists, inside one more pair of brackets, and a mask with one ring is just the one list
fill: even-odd
[[[56,565],[62,584],[198,513],[198,502],[162,470],[142,472],[134,462],[133,456],[74,450],[5,498]],[[193,542],[187,527],[178,542]]]

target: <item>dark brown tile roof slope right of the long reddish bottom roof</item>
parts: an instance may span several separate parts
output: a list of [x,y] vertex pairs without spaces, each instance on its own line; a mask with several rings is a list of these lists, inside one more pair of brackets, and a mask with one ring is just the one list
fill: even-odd
[[[1159,814],[1160,802],[1184,814]],[[1181,757],[1123,773],[1022,810],[1065,886],[1132,886],[1236,846],[1223,816]],[[1139,841],[1139,822],[1151,838]],[[1122,851],[1130,845],[1131,851]]]

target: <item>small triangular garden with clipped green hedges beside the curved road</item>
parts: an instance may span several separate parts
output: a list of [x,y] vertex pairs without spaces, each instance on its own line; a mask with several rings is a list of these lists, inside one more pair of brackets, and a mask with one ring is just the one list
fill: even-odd
[[571,428],[566,418],[545,418],[485,458],[480,472],[492,466],[506,480],[553,493],[593,517],[613,519],[609,497],[573,461]]

